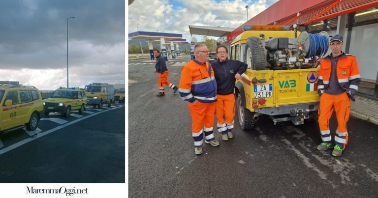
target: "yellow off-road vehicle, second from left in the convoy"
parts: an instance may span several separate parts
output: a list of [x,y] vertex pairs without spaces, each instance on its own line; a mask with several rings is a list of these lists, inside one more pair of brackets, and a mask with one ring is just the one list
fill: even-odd
[[69,117],[71,110],[79,110],[83,113],[87,107],[87,96],[83,88],[59,87],[50,98],[43,100],[45,115],[50,112],[63,113]]

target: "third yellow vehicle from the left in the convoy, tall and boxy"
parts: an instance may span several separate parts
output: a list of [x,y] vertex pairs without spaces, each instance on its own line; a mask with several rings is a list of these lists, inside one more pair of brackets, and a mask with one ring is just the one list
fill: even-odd
[[86,85],[84,88],[87,97],[88,105],[97,105],[98,108],[101,108],[103,104],[108,104],[108,107],[111,107],[114,103],[114,86],[107,83],[93,83]]

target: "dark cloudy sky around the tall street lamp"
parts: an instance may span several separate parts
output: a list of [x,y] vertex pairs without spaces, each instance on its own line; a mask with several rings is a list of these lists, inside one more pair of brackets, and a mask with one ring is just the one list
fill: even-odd
[[0,0],[0,81],[125,84],[125,0]]

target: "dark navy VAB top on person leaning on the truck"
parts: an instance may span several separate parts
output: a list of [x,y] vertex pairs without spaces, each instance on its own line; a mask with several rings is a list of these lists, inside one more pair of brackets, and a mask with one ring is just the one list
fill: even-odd
[[242,75],[246,72],[248,65],[239,60],[226,60],[220,62],[215,61],[211,63],[217,80],[217,94],[228,95],[234,93],[235,75],[238,73]]

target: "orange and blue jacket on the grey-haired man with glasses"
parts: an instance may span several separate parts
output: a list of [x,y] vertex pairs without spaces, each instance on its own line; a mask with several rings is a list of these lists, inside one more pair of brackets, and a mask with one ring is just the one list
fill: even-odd
[[201,103],[217,101],[217,82],[209,62],[200,63],[193,59],[181,69],[179,85],[183,100]]

